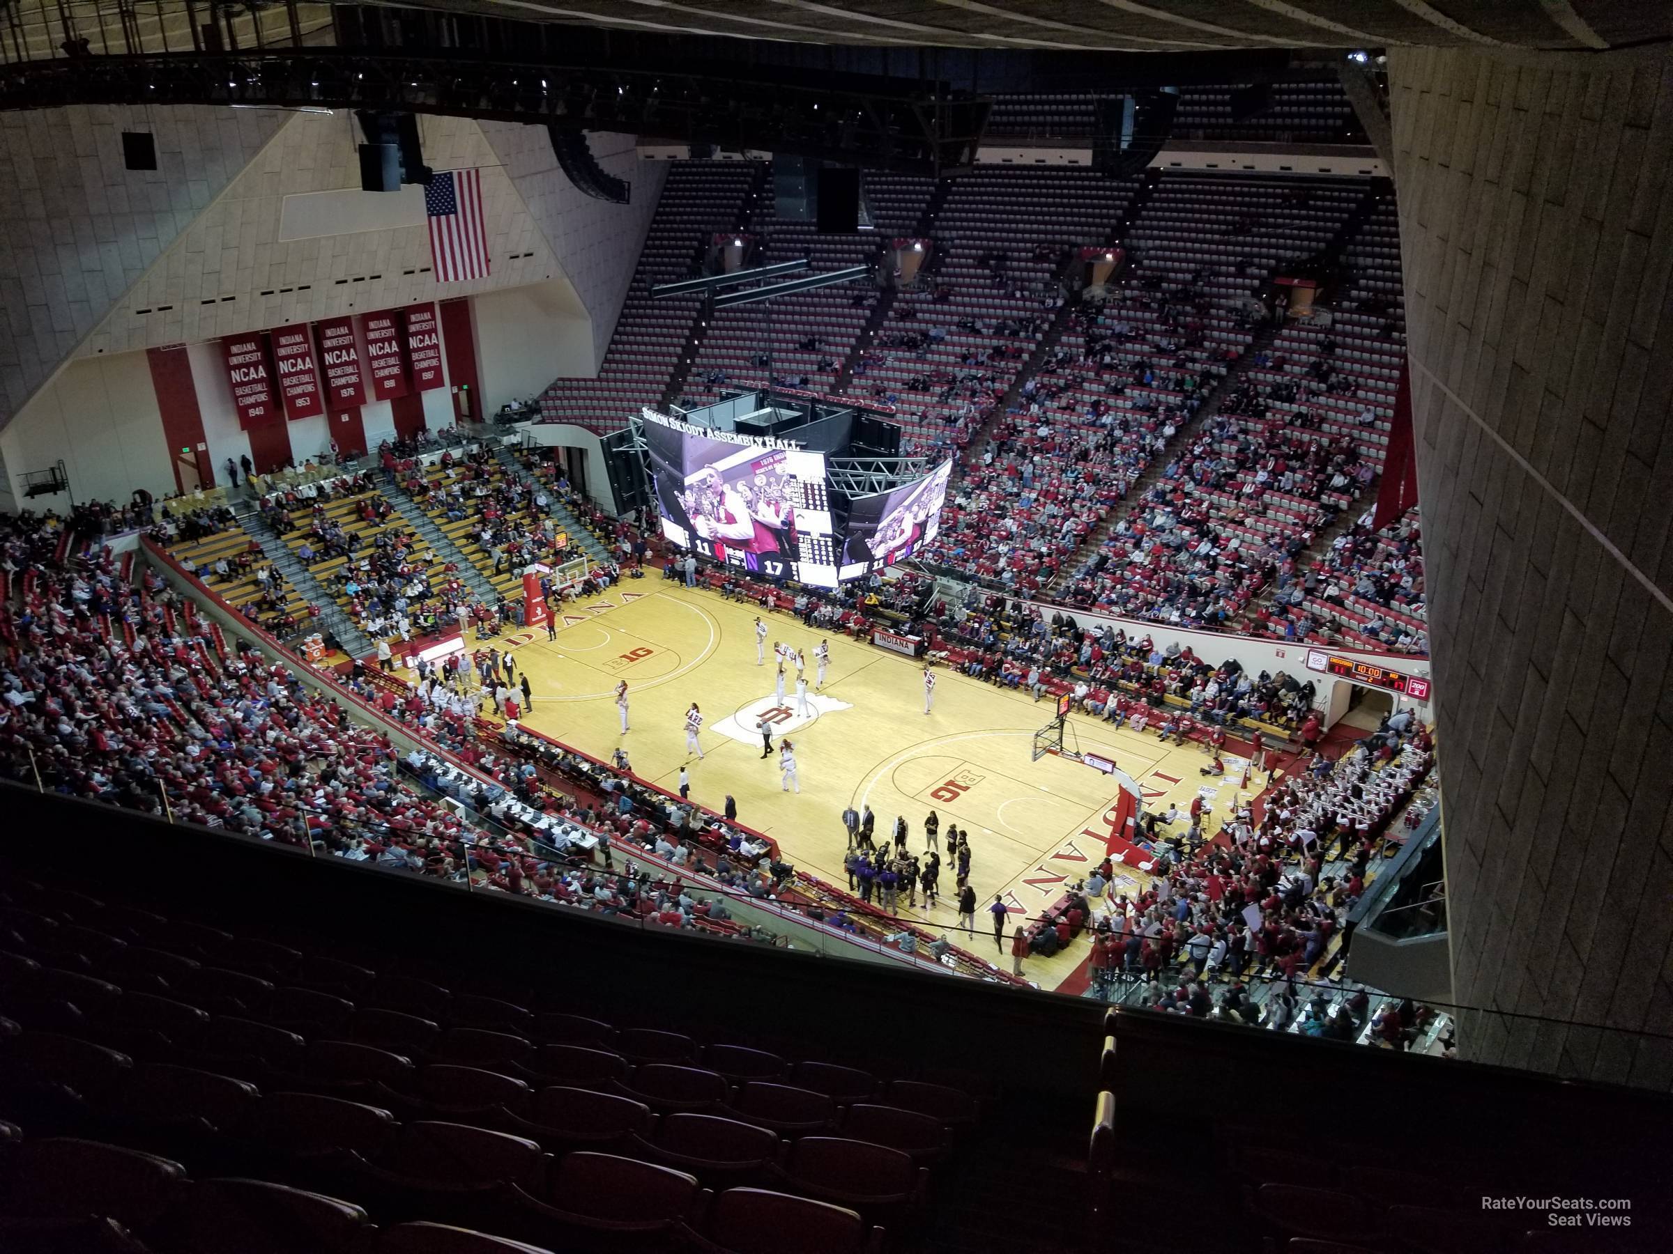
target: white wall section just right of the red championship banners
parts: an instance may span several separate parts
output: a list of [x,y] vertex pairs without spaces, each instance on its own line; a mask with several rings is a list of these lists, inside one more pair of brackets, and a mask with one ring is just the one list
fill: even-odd
[[[539,396],[559,375],[592,376],[592,319],[567,279],[477,296],[482,416]],[[370,435],[370,431],[368,431]]]

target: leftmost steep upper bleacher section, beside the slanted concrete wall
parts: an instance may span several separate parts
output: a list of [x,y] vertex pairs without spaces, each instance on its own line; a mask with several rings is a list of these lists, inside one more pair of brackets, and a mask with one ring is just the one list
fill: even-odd
[[755,162],[724,161],[669,167],[599,376],[555,380],[540,396],[542,420],[614,431],[641,405],[661,401],[703,299],[652,301],[651,288],[701,274],[711,236],[739,226],[758,171]]

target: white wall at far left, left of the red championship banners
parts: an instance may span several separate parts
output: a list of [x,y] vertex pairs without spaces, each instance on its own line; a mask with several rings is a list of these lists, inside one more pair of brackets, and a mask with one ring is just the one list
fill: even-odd
[[[144,353],[72,361],[0,431],[0,451],[15,477],[64,458],[75,500],[125,502],[134,488],[159,498],[174,492],[174,466]],[[17,508],[64,510],[70,503],[64,495],[25,502],[20,482],[10,488],[18,493]]]

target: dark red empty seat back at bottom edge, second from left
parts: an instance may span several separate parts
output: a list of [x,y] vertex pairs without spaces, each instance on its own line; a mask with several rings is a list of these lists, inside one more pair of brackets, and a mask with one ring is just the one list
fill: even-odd
[[192,1184],[162,1221],[171,1254],[356,1254],[366,1212],[266,1180]]

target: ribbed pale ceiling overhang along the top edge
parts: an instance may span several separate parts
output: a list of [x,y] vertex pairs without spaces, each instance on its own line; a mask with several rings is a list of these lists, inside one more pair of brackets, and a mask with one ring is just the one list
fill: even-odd
[[417,7],[657,35],[1064,52],[1604,50],[1673,37],[1673,5],[1661,0],[435,0]]

